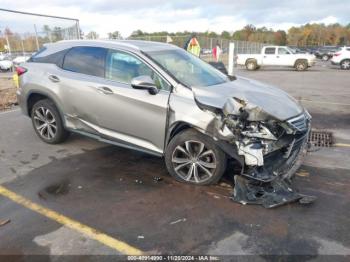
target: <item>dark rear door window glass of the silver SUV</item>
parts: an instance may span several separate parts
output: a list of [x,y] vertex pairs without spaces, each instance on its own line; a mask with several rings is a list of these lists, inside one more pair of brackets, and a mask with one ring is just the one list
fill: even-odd
[[64,58],[63,69],[104,77],[106,53],[107,50],[101,47],[73,47]]

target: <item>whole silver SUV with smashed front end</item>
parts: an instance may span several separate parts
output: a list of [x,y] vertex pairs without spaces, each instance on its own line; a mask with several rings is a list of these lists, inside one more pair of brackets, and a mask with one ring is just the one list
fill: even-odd
[[76,132],[164,156],[183,182],[215,183],[228,160],[249,181],[290,178],[305,151],[310,116],[292,97],[173,45],[62,41],[17,73],[20,106],[46,143]]

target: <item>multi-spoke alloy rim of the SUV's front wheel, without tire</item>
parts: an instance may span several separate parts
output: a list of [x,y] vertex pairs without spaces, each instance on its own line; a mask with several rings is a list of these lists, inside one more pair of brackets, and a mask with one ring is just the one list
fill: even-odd
[[216,169],[216,156],[213,150],[199,141],[186,141],[178,145],[172,154],[174,170],[183,180],[201,183],[210,179]]

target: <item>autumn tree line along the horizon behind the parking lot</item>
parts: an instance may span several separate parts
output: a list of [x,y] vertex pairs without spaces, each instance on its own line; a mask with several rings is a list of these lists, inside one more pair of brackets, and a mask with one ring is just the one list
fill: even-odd
[[[33,33],[18,34],[6,28],[0,31],[0,52],[5,51],[7,40],[10,43],[12,51],[35,51],[43,43],[56,42],[63,39],[76,38],[76,28],[49,27],[44,25],[40,28],[39,34]],[[291,27],[288,31],[273,30],[266,27],[255,27],[254,25],[246,25],[240,30],[234,32],[222,31],[220,34],[215,32],[144,32],[136,30],[131,37],[150,37],[150,36],[170,36],[170,37],[188,37],[195,33],[199,37],[223,38],[227,40],[240,40],[259,43],[268,43],[275,45],[291,45],[291,46],[323,46],[323,45],[350,45],[350,23],[348,25],[341,24],[305,24],[299,27]],[[86,35],[80,30],[80,38],[98,39],[99,35],[95,31],[90,31]],[[75,37],[74,37],[75,36]],[[7,39],[6,39],[7,38]],[[108,33],[109,39],[121,39],[119,31]]]

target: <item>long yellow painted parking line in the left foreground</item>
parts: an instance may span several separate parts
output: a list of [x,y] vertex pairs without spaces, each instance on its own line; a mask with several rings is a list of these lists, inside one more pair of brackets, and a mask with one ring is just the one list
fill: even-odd
[[84,224],[79,223],[78,221],[75,221],[73,219],[70,219],[64,215],[61,215],[53,210],[50,210],[48,208],[45,208],[43,206],[40,206],[18,194],[16,194],[13,191],[8,190],[7,188],[0,186],[0,195],[11,199],[12,201],[33,210],[34,212],[37,212],[43,216],[46,216],[47,218],[50,218],[57,223],[60,223],[64,226],[67,226],[75,231],[78,231],[80,233],[83,233],[90,237],[91,239],[97,240],[100,243],[113,248],[117,250],[120,253],[127,254],[127,255],[142,255],[143,252],[135,247],[130,246],[129,244],[117,240],[115,238],[112,238],[94,228],[91,228],[89,226],[86,226]]

